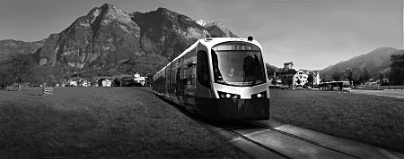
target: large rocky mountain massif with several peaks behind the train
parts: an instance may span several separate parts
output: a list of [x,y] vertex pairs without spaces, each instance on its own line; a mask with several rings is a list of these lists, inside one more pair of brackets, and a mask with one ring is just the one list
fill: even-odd
[[40,42],[0,44],[0,55],[31,53],[40,65],[64,67],[67,72],[146,74],[162,68],[199,38],[212,35],[236,37],[219,21],[204,27],[162,7],[125,13],[103,4]]

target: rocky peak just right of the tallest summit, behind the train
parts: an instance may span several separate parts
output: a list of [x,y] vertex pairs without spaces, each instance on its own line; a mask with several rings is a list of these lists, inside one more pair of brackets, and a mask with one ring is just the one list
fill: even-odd
[[158,8],[150,13],[131,13],[139,24],[140,44],[147,54],[158,54],[173,59],[209,32],[189,17]]

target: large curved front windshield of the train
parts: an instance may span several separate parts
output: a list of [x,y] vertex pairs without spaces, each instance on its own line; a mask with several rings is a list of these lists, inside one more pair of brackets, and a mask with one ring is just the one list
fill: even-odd
[[212,48],[215,82],[231,86],[254,86],[266,82],[258,46],[227,42]]

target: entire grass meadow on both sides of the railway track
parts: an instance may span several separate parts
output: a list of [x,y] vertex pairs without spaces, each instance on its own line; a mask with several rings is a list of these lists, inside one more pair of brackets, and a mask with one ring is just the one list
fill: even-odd
[[[270,90],[276,121],[404,153],[404,99]],[[5,158],[250,158],[150,88],[0,91]]]

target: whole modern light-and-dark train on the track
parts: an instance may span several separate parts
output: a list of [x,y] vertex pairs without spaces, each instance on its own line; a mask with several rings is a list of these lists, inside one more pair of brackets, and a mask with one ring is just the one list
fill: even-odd
[[198,39],[154,74],[154,95],[215,121],[268,120],[262,53],[252,37]]

